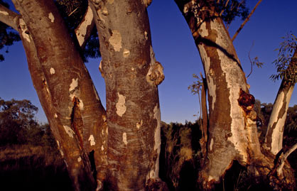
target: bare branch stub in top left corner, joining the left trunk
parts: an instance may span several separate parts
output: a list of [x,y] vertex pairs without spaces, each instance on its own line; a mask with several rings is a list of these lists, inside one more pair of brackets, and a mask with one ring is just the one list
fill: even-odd
[[0,4],[0,21],[18,31],[18,14]]

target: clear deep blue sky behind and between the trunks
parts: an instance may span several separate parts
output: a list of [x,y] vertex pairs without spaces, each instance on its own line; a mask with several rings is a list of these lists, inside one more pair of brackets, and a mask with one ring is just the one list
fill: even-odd
[[[258,0],[247,0],[252,9]],[[297,35],[297,1],[263,0],[250,21],[234,40],[239,60],[244,72],[249,74],[248,53],[254,42],[251,57],[258,56],[264,67],[254,68],[247,82],[250,92],[261,102],[274,102],[280,82],[273,82],[269,76],[276,72],[272,62],[277,57],[281,37],[290,31]],[[193,83],[192,75],[203,73],[200,55],[195,47],[190,29],[173,0],[153,0],[148,7],[151,23],[153,50],[156,60],[164,67],[165,80],[159,85],[161,118],[166,122],[195,121],[198,116],[199,102],[197,95],[188,90]],[[239,28],[242,21],[234,21],[229,27],[230,36]],[[2,99],[29,99],[38,108],[36,118],[45,122],[45,114],[33,87],[26,55],[21,42],[0,50],[4,62],[0,62],[0,97]],[[92,80],[95,82],[102,104],[105,105],[104,80],[98,66],[99,60],[86,63]],[[297,104],[297,91],[294,90],[290,106]]]

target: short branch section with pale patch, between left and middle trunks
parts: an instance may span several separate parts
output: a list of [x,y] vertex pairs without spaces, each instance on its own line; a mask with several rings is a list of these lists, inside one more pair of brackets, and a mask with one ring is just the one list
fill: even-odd
[[87,6],[87,11],[85,13],[84,18],[82,19],[82,22],[75,29],[77,41],[80,44],[80,47],[82,49],[85,48],[87,39],[90,37],[94,26],[95,26],[95,21],[93,19],[92,9],[90,8],[90,6]]

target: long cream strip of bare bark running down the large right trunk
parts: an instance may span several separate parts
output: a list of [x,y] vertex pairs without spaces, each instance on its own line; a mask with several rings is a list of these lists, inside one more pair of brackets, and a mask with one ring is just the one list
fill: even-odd
[[[217,31],[217,39],[215,43],[220,45],[220,47],[224,48],[225,50],[228,50],[229,36],[227,36],[227,33],[225,33],[225,28],[222,26],[222,23],[210,21],[210,27],[212,30]],[[222,71],[226,77],[227,88],[229,89],[232,136],[229,136],[227,140],[233,143],[235,150],[237,150],[239,154],[242,155],[242,160],[247,161],[246,148],[248,141],[247,137],[244,136],[244,117],[242,114],[242,109],[238,104],[239,90],[247,89],[247,87],[244,86],[246,83],[240,75],[240,68],[238,66],[239,63],[228,58],[227,55],[222,53],[219,48],[217,48],[217,54],[219,55]]]

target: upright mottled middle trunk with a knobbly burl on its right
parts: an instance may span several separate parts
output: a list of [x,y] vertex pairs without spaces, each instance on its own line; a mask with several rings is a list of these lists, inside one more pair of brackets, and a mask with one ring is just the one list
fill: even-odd
[[146,1],[89,1],[106,84],[109,190],[160,186],[163,67],[153,53]]

